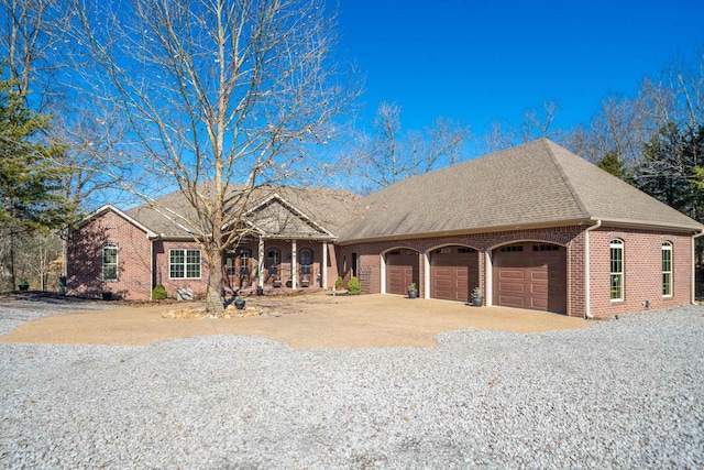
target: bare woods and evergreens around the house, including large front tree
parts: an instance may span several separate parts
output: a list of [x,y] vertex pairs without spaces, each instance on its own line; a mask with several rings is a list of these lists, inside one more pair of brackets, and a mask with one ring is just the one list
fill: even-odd
[[559,106],[546,101],[486,135],[447,118],[406,130],[393,102],[360,130],[346,117],[361,81],[336,54],[323,0],[99,3],[0,0],[4,288],[21,277],[38,287],[61,243],[42,242],[54,251],[40,256],[37,242],[107,201],[156,205],[155,188],[184,190],[196,220],[155,208],[217,263],[246,234],[255,189],[337,174],[367,193],[465,160],[471,145],[540,136],[704,221],[704,50],[646,77],[636,96],[595,103],[575,129],[556,129]]

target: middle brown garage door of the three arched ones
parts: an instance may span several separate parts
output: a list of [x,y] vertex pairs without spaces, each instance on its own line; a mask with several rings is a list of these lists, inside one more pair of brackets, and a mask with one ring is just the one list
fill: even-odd
[[468,302],[479,284],[479,254],[466,247],[443,247],[430,254],[430,297]]

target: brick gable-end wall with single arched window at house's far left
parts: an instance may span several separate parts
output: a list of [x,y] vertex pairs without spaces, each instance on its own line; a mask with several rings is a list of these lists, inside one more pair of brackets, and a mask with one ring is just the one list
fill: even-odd
[[[118,280],[102,280],[102,247],[118,247]],[[125,299],[150,298],[152,291],[150,240],[146,233],[108,210],[68,240],[66,260],[68,295],[100,298],[103,292]]]

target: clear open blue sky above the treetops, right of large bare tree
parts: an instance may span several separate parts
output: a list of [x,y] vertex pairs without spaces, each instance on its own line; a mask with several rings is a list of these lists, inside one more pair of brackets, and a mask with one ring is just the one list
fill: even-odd
[[340,0],[340,52],[365,74],[363,121],[383,100],[404,129],[443,116],[474,135],[546,100],[587,123],[678,54],[704,47],[704,1]]

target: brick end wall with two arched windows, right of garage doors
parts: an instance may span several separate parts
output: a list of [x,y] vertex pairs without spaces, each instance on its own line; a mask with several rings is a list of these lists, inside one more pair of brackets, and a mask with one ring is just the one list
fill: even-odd
[[[613,239],[624,241],[624,299],[610,299],[610,249]],[[672,296],[662,296],[662,243],[672,243]],[[691,238],[674,232],[601,228],[590,233],[591,311],[607,316],[691,303]]]

